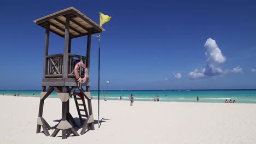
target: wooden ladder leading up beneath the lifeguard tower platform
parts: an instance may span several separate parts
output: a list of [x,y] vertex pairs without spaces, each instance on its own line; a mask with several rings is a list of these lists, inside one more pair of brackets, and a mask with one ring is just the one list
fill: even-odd
[[[86,109],[84,96],[83,96],[83,98],[80,98],[78,96],[78,93],[73,93],[73,95],[74,95],[75,106],[77,107],[78,116],[79,116],[81,124],[83,125],[84,124],[83,117],[88,118],[88,116],[89,116],[88,111]],[[80,103],[78,103],[78,101]],[[81,103],[81,101],[82,101],[82,103]],[[81,114],[81,112],[85,112],[85,115]]]

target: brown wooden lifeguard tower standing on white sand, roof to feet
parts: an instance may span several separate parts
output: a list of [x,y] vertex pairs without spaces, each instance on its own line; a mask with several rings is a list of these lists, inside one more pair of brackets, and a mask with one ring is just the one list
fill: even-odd
[[[89,73],[91,35],[95,33],[101,33],[104,31],[104,29],[73,7],[57,11],[56,13],[37,19],[34,22],[46,29],[43,83],[37,119],[37,133],[40,133],[40,129],[42,127],[44,134],[46,136],[50,135],[48,129],[51,129],[51,127],[43,118],[43,107],[44,100],[54,90],[57,92],[57,95],[62,101],[62,119],[51,136],[56,136],[60,130],[62,130],[62,139],[67,138],[68,130],[70,130],[74,135],[79,135],[71,125],[72,123],[75,127],[78,127],[71,113],[69,113],[69,98],[71,94],[74,95],[75,105],[77,106],[79,119],[82,123],[82,131],[80,134],[85,133],[88,125],[90,126],[91,130],[94,130],[94,116],[92,115],[90,82],[88,79],[85,83],[82,83],[81,87],[78,86],[79,83],[77,80],[75,80],[74,67],[78,61],[82,60],[86,64]],[[48,55],[50,32],[64,38],[65,43],[63,53]],[[85,35],[87,35],[86,56],[72,54],[72,39],[83,37]],[[84,69],[80,70],[80,73],[82,73],[82,71],[84,71]],[[85,87],[85,89],[83,87]],[[76,89],[79,89],[79,92],[84,95],[86,100],[88,100],[87,106],[84,101],[84,97],[76,97],[76,95],[78,95],[78,93],[75,92]],[[83,103],[79,104],[79,100],[81,100]],[[85,112],[85,114],[82,115],[82,112]],[[86,121],[84,121],[82,117],[86,118]]]

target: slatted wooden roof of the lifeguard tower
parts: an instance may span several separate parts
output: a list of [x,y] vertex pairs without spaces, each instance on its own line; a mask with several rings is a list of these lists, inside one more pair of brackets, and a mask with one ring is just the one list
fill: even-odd
[[56,13],[34,20],[34,22],[43,28],[50,25],[51,32],[64,38],[66,16],[70,17],[69,35],[71,38],[82,37],[84,35],[88,35],[89,32],[94,34],[105,31],[104,28],[97,25],[96,22],[92,21],[89,19],[89,17],[85,16],[79,10],[73,7],[57,11]]

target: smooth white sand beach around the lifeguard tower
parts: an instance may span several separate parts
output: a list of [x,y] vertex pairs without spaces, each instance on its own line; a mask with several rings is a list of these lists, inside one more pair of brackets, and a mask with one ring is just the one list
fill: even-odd
[[[256,143],[256,104],[101,101],[100,129],[66,140],[36,134],[38,107],[39,98],[1,96],[1,143]],[[70,112],[78,117],[73,99]],[[47,98],[43,117],[54,127],[61,100]]]

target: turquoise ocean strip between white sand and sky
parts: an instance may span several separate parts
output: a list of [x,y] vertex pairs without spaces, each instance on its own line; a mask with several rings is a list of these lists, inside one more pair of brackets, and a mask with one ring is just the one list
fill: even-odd
[[[40,97],[40,90],[35,91],[3,91],[0,94],[14,97],[14,94],[20,97]],[[224,103],[225,99],[236,100],[236,103],[256,103],[256,89],[232,89],[232,90],[170,90],[170,91],[100,91],[100,99],[106,100],[129,100],[131,94],[135,95],[135,101],[154,101],[156,95],[160,101],[178,101],[178,102],[199,102],[202,103]],[[98,91],[91,91],[93,99],[98,98]],[[53,92],[49,96],[58,98],[57,93]]]

